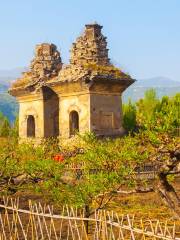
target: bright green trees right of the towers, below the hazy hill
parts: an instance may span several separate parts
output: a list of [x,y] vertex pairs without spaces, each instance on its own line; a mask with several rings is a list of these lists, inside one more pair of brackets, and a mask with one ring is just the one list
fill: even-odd
[[180,126],[180,93],[158,99],[156,91],[149,89],[143,99],[136,103],[129,100],[124,104],[123,114],[123,125],[127,131],[176,131]]

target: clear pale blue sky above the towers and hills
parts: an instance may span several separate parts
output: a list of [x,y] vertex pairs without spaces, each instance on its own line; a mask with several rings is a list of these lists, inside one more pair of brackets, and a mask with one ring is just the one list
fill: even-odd
[[41,42],[55,43],[67,63],[72,42],[94,21],[125,72],[180,81],[180,0],[0,0],[0,69],[28,66]]

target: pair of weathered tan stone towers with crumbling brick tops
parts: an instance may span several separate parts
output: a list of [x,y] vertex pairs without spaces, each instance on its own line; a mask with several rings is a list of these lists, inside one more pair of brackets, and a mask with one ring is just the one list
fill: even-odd
[[101,28],[86,25],[66,66],[55,45],[37,45],[30,71],[9,90],[20,106],[20,138],[122,134],[121,94],[134,80],[110,63]]

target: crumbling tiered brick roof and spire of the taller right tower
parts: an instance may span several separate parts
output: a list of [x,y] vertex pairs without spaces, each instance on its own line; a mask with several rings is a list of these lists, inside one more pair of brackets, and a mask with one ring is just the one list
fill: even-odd
[[102,26],[88,24],[82,36],[71,48],[70,64],[59,72],[60,81],[91,81],[99,79],[130,79],[130,76],[114,67],[108,57],[106,37]]

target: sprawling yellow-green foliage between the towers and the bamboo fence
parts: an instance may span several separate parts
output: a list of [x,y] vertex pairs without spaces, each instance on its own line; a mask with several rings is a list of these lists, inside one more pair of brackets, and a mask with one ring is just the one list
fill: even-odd
[[[153,161],[163,144],[166,149],[173,149],[177,141],[175,137],[150,130],[114,140],[99,140],[92,133],[79,138],[86,146],[84,153],[61,163],[55,162],[53,155],[65,149],[58,147],[53,139],[40,146],[17,144],[12,139],[1,141],[1,194],[25,189],[58,205],[88,206],[92,213],[93,209],[105,208],[119,189],[139,184],[134,169]],[[69,163],[81,168],[69,169]],[[25,180],[15,183],[21,176]],[[146,185],[146,181],[141,184]]]

